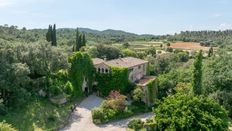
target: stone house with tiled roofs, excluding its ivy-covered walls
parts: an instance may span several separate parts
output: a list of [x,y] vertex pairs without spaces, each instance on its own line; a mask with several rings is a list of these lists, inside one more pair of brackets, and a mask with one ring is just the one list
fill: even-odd
[[[149,90],[148,90],[148,83],[150,81],[155,81],[155,77],[147,76],[147,67],[148,61],[134,58],[134,57],[125,57],[125,58],[118,58],[114,60],[103,60],[99,58],[94,58],[93,64],[96,69],[96,72],[99,73],[110,73],[110,67],[124,67],[128,68],[129,70],[129,80],[132,83],[137,84],[140,88],[142,88],[144,92],[144,98],[142,99],[145,103],[151,104],[151,100],[149,99]],[[95,83],[97,84],[97,83]],[[157,88],[154,87],[152,90],[154,94],[157,93]]]

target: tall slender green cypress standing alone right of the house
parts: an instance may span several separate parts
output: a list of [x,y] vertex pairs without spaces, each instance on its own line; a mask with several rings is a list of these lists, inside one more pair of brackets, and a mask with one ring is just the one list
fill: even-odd
[[193,92],[195,95],[202,94],[202,50],[198,52],[193,63]]

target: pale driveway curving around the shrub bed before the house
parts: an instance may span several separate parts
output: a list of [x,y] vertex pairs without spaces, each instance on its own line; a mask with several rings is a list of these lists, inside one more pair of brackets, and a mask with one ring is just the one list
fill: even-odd
[[90,95],[84,99],[76,108],[70,119],[70,125],[61,131],[125,131],[127,123],[133,118],[146,119],[152,116],[151,113],[138,115],[136,117],[111,122],[104,125],[95,125],[92,122],[91,109],[100,106],[102,98]]

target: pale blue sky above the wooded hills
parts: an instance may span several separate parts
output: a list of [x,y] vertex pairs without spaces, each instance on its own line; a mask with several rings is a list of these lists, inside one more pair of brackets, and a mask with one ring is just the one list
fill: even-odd
[[0,25],[137,34],[232,29],[232,0],[0,0]]

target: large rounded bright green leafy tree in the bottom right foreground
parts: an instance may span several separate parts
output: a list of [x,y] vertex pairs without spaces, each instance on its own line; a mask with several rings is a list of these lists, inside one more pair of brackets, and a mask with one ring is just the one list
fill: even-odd
[[168,96],[154,111],[159,130],[227,130],[228,116],[215,101],[193,95]]

